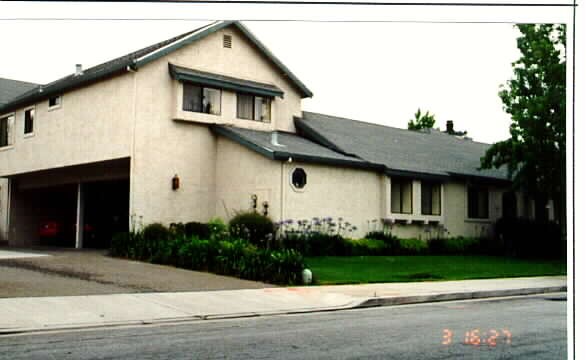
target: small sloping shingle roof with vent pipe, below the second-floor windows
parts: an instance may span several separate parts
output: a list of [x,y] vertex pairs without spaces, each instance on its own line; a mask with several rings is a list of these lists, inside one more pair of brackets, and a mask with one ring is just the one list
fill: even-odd
[[278,143],[284,146],[276,146],[271,143],[272,132],[219,125],[212,126],[212,131],[274,160],[292,158],[294,161],[380,170],[367,161],[340,154],[296,134],[278,132]]

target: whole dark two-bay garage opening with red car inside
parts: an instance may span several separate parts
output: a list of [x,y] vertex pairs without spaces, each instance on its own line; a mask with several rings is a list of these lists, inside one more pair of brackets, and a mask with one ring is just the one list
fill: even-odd
[[128,231],[130,159],[10,179],[11,246],[108,248]]

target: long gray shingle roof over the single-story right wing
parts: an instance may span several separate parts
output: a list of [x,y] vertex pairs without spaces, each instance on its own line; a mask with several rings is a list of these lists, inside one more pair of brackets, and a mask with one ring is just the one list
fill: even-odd
[[507,180],[506,169],[478,170],[480,157],[489,144],[434,130],[424,133],[312,112],[303,112],[295,124],[304,136],[370,163],[382,164],[387,173]]

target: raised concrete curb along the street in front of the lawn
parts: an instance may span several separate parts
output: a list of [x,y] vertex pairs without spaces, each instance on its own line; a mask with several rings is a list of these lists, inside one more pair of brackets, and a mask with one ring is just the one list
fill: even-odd
[[470,299],[489,299],[495,297],[505,296],[523,296],[536,295],[553,292],[567,292],[567,286],[549,286],[541,288],[522,288],[522,289],[506,289],[506,290],[481,290],[481,291],[466,291],[456,293],[441,293],[428,295],[414,295],[414,296],[381,296],[373,297],[365,300],[356,308],[368,308],[377,306],[393,306],[393,305],[407,305],[407,304],[421,304],[440,301],[455,301],[455,300],[470,300]]

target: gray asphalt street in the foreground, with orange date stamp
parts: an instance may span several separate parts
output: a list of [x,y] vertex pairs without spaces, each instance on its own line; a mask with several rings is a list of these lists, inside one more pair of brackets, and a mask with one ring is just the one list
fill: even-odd
[[566,294],[0,337],[0,359],[565,359]]

